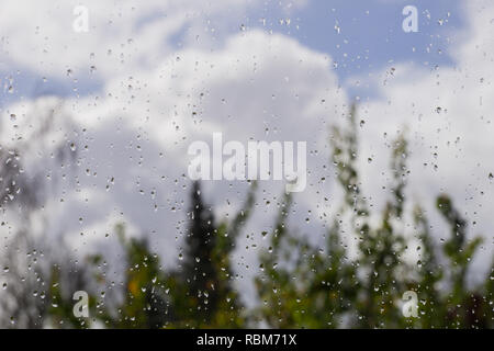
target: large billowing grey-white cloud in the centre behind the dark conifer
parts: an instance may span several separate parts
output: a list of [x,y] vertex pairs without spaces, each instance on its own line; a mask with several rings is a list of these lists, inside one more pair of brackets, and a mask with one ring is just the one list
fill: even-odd
[[[245,144],[307,141],[308,184],[296,197],[293,220],[304,223],[300,228],[304,233],[319,231],[317,220],[305,224],[303,218],[311,216],[312,204],[327,186],[321,179],[329,178],[328,122],[347,109],[330,67],[329,57],[285,36],[242,32],[217,50],[183,48],[165,55],[154,68],[108,78],[101,93],[12,104],[5,113],[16,111],[22,118],[15,127],[5,123],[3,139],[15,140],[16,135],[30,139],[40,110],[67,116],[75,127],[47,139],[68,148],[76,143],[76,159],[69,169],[55,163],[47,170],[43,165],[46,173],[61,179],[54,201],[44,208],[53,216],[49,231],[86,245],[103,238],[111,218],[120,218],[149,234],[154,247],[164,248],[167,263],[176,261],[184,229],[190,143],[211,143],[213,132],[222,132],[225,141]],[[57,124],[57,129],[63,128]],[[204,185],[222,216],[237,211],[247,189],[240,181]],[[248,230],[270,229],[283,189],[281,181],[261,182],[261,206]],[[251,265],[256,253],[239,253],[244,267]]]

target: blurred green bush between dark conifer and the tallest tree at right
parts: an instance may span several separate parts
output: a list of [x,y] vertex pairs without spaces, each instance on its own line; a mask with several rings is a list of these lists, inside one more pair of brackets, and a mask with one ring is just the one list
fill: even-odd
[[338,317],[351,308],[358,286],[355,267],[344,261],[338,223],[327,238],[332,250],[317,250],[288,233],[289,207],[287,195],[270,247],[260,258],[263,274],[256,280],[260,318],[273,328],[337,327]]

